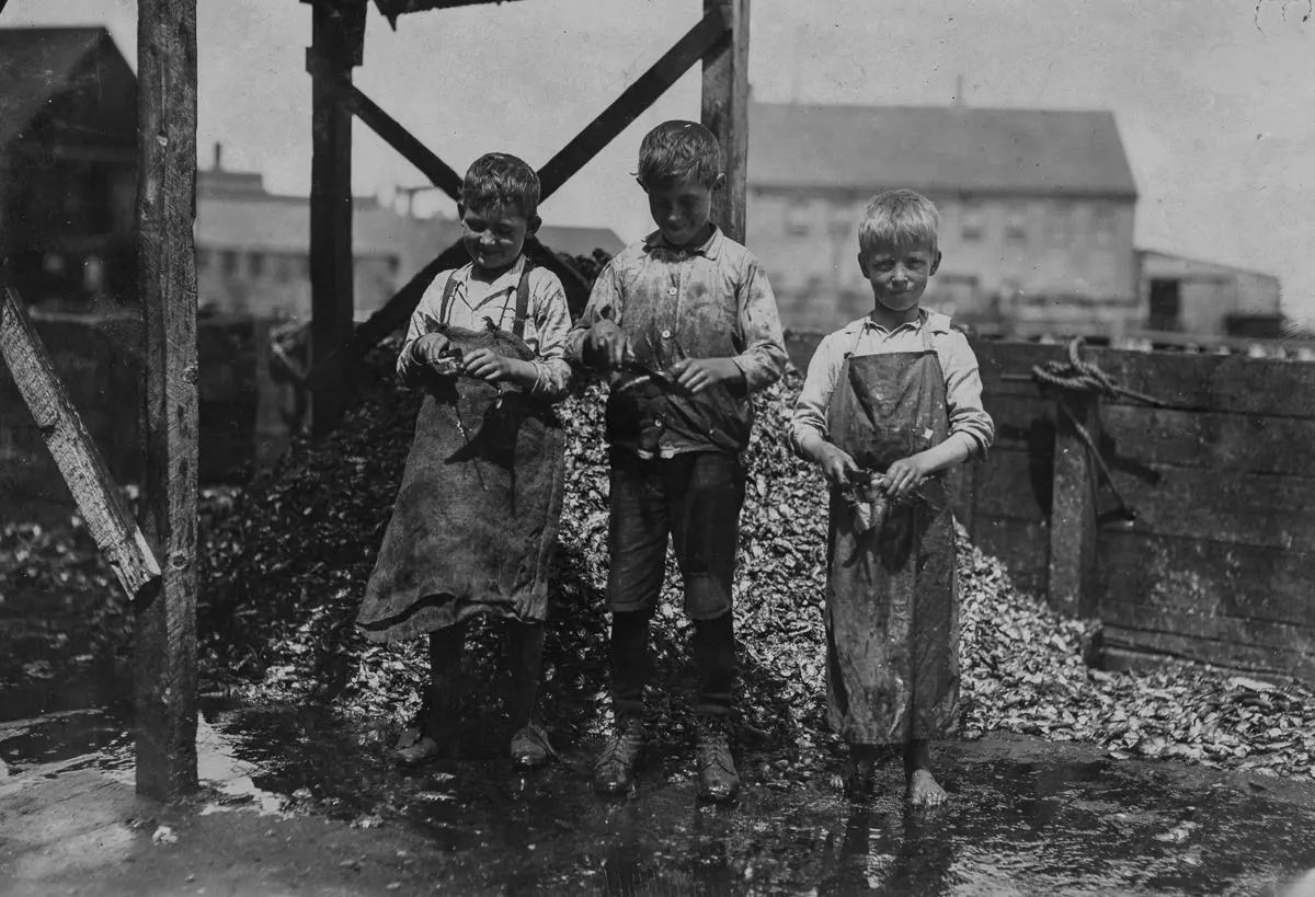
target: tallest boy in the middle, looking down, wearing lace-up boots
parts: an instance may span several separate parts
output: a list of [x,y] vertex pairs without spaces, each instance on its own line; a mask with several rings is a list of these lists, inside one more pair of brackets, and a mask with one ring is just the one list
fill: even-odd
[[596,763],[594,788],[619,793],[634,784],[644,740],[648,622],[669,537],[694,625],[700,793],[730,800],[739,789],[727,717],[740,455],[753,422],[750,393],[781,376],[786,354],[761,266],[709,221],[713,192],[726,182],[711,132],[689,121],[648,132],[638,180],[658,230],[604,268],[568,341],[577,362],[611,371],[614,730]]

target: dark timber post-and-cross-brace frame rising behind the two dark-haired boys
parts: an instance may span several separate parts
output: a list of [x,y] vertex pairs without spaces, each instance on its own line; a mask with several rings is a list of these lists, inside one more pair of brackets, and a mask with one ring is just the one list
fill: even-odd
[[[362,64],[368,0],[301,1],[314,11],[312,46],[306,51],[306,71],[314,80],[310,187],[313,370],[309,384],[313,430],[323,434],[337,425],[347,406],[351,366],[360,352],[406,322],[439,271],[459,267],[467,258],[460,243],[454,243],[416,272],[368,321],[354,326],[352,118],[371,128],[454,201],[459,199],[462,178],[352,84],[352,68]],[[397,17],[405,13],[501,1],[375,0],[375,5],[396,26]],[[694,12],[697,7],[693,1],[690,5]],[[542,199],[559,189],[681,75],[702,62],[702,121],[721,141],[727,178],[727,188],[717,195],[713,217],[727,234],[743,241],[748,11],[750,0],[702,0],[702,17],[693,21],[684,37],[539,170]],[[537,239],[526,241],[526,253],[562,279],[568,304],[572,312],[579,313],[586,296],[575,272]]]

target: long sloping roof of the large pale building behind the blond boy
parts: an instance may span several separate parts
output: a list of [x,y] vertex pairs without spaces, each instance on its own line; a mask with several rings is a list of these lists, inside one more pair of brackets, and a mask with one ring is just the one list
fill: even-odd
[[751,187],[1136,197],[1110,112],[750,105]]

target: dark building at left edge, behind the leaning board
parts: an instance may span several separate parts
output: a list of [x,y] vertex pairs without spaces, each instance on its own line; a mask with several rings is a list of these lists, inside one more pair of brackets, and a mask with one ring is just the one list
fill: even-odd
[[104,28],[0,29],[0,255],[28,303],[133,301],[137,79]]

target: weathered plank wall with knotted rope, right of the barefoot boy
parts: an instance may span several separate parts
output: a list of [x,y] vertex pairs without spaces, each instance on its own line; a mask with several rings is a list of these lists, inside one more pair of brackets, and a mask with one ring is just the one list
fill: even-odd
[[[790,342],[801,370],[815,345]],[[997,427],[957,493],[978,546],[1022,587],[1099,617],[1110,663],[1173,656],[1315,683],[1315,364],[1084,350],[1165,404],[1102,400],[1088,418],[1135,517],[1119,525],[1099,522],[1114,495],[1028,377],[1065,347],[973,347]]]

